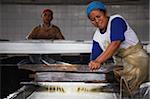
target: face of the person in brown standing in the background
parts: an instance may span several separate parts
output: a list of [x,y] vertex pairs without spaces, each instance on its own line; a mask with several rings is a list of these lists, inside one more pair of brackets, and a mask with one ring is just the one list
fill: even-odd
[[52,19],[53,19],[53,15],[52,15],[52,13],[51,12],[49,12],[49,11],[46,11],[46,12],[44,12],[43,14],[42,14],[42,19],[43,19],[43,22],[44,23],[50,23],[51,21],[52,21]]

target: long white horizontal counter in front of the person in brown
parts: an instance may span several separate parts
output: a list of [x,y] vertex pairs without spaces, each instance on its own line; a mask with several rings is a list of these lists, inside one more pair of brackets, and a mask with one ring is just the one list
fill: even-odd
[[1,54],[89,53],[90,50],[90,41],[26,40],[0,42]]

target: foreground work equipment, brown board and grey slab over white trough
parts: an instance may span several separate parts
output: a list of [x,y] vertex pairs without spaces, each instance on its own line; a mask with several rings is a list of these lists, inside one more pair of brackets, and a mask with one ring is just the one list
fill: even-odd
[[24,86],[7,99],[119,99],[119,85],[112,75],[115,66],[103,66],[98,71],[90,71],[87,65],[72,64],[19,68],[34,71],[30,75],[34,81],[21,82]]

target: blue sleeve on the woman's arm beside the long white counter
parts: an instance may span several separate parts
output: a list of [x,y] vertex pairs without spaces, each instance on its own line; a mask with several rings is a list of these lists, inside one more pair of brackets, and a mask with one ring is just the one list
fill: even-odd
[[92,53],[90,56],[90,60],[95,60],[102,52],[103,50],[101,49],[99,43],[93,40]]

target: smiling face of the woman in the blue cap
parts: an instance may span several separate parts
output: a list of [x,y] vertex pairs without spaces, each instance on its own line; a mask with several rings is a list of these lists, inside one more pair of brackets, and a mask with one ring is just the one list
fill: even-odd
[[89,14],[89,19],[95,27],[101,30],[106,29],[108,18],[106,13],[104,13],[103,11],[100,11],[98,9],[91,11],[91,13]]

